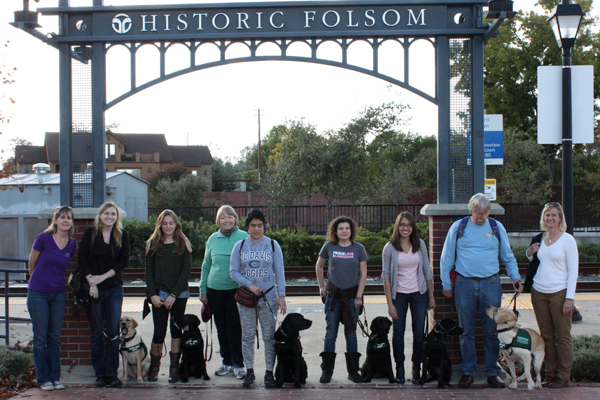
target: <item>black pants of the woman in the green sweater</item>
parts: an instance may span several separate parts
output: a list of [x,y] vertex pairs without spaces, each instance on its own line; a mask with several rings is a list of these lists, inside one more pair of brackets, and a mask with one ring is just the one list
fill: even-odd
[[235,302],[235,289],[206,289],[208,304],[213,310],[223,365],[244,366],[242,355],[242,326]]

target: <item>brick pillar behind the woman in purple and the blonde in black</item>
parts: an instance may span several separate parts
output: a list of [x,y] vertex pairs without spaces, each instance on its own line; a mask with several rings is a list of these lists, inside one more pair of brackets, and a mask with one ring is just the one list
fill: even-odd
[[[62,365],[91,365],[92,360],[90,358],[90,338],[92,331],[90,330],[90,324],[87,319],[85,309],[79,308],[79,322],[73,317],[73,292],[69,286],[66,285],[67,278],[77,267],[77,255],[79,254],[79,243],[81,242],[81,236],[87,227],[92,226],[94,218],[97,214],[97,208],[75,208],[75,233],[73,237],[77,240],[77,251],[75,257],[71,259],[69,268],[65,274],[65,286],[67,287],[67,303],[65,307],[65,316],[63,319],[63,326],[61,332],[61,352],[60,361]],[[48,217],[49,224],[52,221],[52,215],[54,210],[44,210],[40,213],[40,217]]]

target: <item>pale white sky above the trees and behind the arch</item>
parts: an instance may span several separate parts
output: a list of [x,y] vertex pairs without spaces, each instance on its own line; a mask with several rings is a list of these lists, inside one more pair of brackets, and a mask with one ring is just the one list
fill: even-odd
[[[220,1],[153,1],[105,0],[105,5],[199,4]],[[515,1],[515,10],[530,10],[535,0]],[[71,6],[89,6],[92,0],[71,0]],[[58,0],[30,2],[31,9],[54,7]],[[10,123],[0,126],[0,148],[8,140],[24,138],[43,145],[45,132],[59,130],[58,51],[8,23],[13,11],[22,9],[22,0],[0,1],[0,62],[16,67],[15,83],[0,88],[2,113]],[[40,15],[42,32],[57,32],[55,17]],[[6,42],[9,42],[4,47]],[[107,66],[108,100],[122,93],[128,76],[122,73],[122,53],[109,52]],[[321,50],[319,50],[321,51]],[[421,64],[415,65],[411,79],[433,91],[433,48],[422,45]],[[327,57],[336,56],[335,49],[323,49]],[[142,79],[158,70],[157,53],[143,50],[140,62],[147,62]],[[229,54],[229,53],[228,53]],[[234,53],[235,54],[235,53]],[[361,49],[355,49],[352,60],[361,60]],[[183,52],[175,50],[167,59],[169,68],[181,65]],[[416,57],[415,57],[416,59]],[[357,61],[360,62],[360,61]],[[391,70],[397,59],[382,60],[381,68]],[[126,66],[125,70],[128,68]],[[156,72],[157,73],[157,72]],[[433,93],[431,93],[433,94]],[[12,104],[11,98],[15,103]],[[106,112],[106,124],[118,123],[116,133],[163,133],[170,145],[208,145],[213,156],[234,160],[243,148],[258,140],[258,110],[262,137],[271,127],[303,118],[318,131],[338,129],[359,116],[369,106],[397,101],[411,107],[410,130],[423,135],[437,134],[437,107],[398,86],[358,72],[300,62],[237,63],[196,71],[146,89]],[[6,157],[6,155],[0,155]]]

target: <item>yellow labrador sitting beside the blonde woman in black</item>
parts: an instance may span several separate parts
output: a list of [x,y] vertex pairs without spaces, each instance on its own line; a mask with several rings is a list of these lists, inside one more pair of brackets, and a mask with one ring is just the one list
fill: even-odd
[[136,330],[138,323],[132,317],[121,317],[121,357],[123,358],[123,376],[121,380],[127,383],[127,378],[137,378],[142,383],[148,377],[150,368],[150,353]]

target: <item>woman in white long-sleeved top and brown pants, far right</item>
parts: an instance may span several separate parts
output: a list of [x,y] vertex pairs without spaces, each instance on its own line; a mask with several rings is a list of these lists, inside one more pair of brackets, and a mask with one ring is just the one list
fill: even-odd
[[541,243],[527,249],[527,257],[537,253],[540,266],[533,278],[531,302],[540,333],[546,344],[546,377],[549,388],[569,385],[573,367],[571,319],[579,272],[579,253],[573,236],[566,232],[563,209],[548,203],[540,220],[547,234]]

